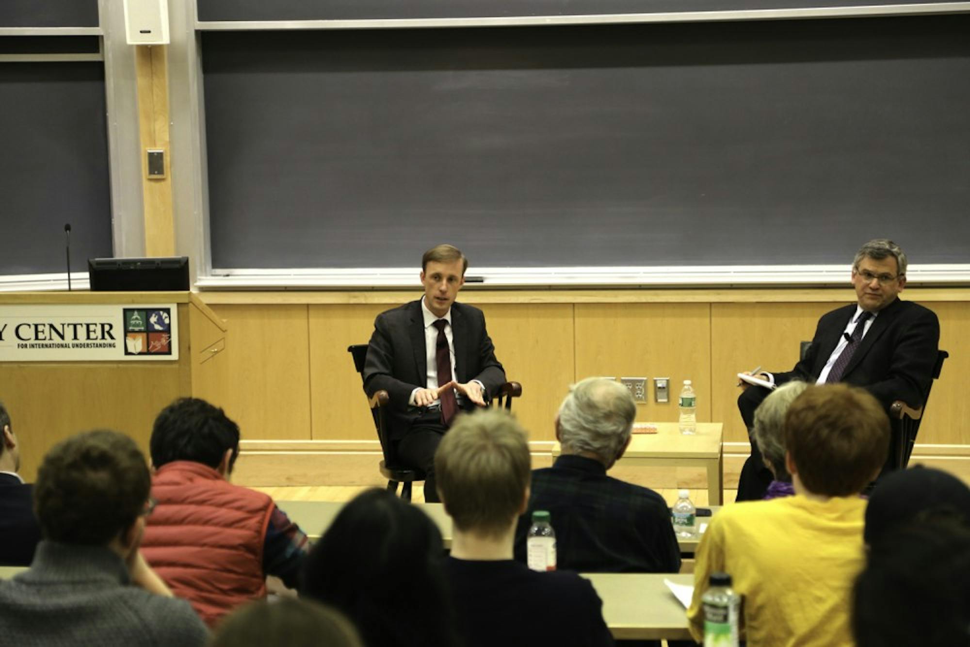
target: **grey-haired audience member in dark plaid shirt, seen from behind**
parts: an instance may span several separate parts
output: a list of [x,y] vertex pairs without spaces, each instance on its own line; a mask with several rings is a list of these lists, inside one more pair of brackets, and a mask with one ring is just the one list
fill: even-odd
[[589,377],[559,407],[563,452],[533,471],[532,495],[515,533],[526,561],[533,510],[548,510],[558,567],[579,572],[677,572],[680,548],[663,497],[606,475],[630,444],[636,403],[617,381]]

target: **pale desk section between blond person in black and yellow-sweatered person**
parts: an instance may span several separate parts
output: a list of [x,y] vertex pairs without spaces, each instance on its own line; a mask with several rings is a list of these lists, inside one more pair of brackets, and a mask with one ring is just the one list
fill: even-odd
[[694,575],[583,573],[603,600],[603,620],[617,639],[690,638],[687,610],[663,584],[694,584]]

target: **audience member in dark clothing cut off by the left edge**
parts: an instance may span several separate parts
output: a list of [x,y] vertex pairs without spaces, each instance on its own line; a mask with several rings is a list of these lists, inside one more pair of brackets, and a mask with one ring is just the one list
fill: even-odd
[[34,517],[33,486],[24,483],[20,469],[20,447],[10,414],[0,403],[0,565],[29,566],[41,540],[41,528]]

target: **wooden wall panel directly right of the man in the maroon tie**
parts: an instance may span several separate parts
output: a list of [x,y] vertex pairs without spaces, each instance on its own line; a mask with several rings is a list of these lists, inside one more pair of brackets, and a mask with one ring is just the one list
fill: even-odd
[[[473,302],[471,302],[473,303]],[[509,380],[522,384],[512,411],[530,440],[554,440],[559,404],[574,379],[572,306],[478,305]]]

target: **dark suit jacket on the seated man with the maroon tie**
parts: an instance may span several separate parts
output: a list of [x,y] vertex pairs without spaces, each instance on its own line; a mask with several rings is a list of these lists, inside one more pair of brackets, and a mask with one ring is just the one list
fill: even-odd
[[[451,305],[451,331],[455,345],[455,379],[477,379],[488,394],[505,382],[505,371],[495,357],[495,346],[485,330],[485,315],[477,307]],[[420,410],[408,406],[411,392],[427,386],[428,359],[425,348],[421,302],[381,312],[373,322],[371,345],[364,364],[364,391],[371,398],[380,390],[391,397],[390,437],[404,437]]]

